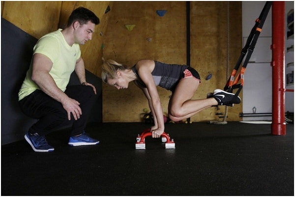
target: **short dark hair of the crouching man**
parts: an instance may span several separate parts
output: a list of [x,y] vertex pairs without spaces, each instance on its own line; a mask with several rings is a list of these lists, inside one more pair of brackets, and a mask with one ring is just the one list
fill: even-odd
[[75,21],[78,21],[80,25],[87,24],[89,21],[95,25],[99,24],[99,18],[92,11],[85,7],[78,7],[71,13],[67,27],[69,27]]

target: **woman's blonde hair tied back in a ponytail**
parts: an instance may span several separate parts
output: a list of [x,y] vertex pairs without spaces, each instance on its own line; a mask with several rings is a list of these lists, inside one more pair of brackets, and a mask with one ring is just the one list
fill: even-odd
[[102,57],[101,78],[104,83],[108,82],[108,78],[110,78],[110,79],[116,78],[118,70],[123,71],[125,69],[126,69],[125,65],[120,64],[112,59],[105,60]]

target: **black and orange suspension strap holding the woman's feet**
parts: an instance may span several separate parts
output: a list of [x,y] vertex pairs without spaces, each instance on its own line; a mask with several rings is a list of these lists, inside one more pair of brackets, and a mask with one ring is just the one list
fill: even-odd
[[[237,60],[236,66],[235,66],[230,78],[228,79],[227,84],[224,87],[224,90],[227,91],[227,92],[230,92],[230,93],[233,93],[233,89],[238,88],[238,90],[236,91],[235,97],[238,96],[238,94],[240,93],[240,91],[241,91],[241,89],[242,89],[242,87],[244,85],[244,72],[246,70],[248,61],[249,61],[249,59],[250,59],[250,57],[251,57],[251,55],[252,55],[252,53],[254,51],[254,48],[255,48],[256,42],[258,40],[258,37],[260,35],[260,32],[262,30],[262,27],[263,27],[263,25],[264,25],[264,23],[266,21],[266,17],[267,17],[269,9],[271,7],[271,4],[272,4],[272,1],[266,1],[266,4],[265,4],[260,16],[259,16],[258,19],[256,19],[255,25],[252,28],[252,30],[250,32],[250,35],[249,35],[249,37],[247,39],[247,42],[246,42],[244,48],[241,51],[241,55],[239,56],[239,58]],[[246,56],[246,59],[245,59],[245,61],[243,63],[243,66],[242,66],[242,68],[240,70],[240,73],[236,77],[236,72],[239,69],[239,66],[241,65],[242,60],[243,60],[243,58],[244,58],[244,56],[246,54],[247,54],[247,56]],[[235,77],[236,77],[236,80],[235,80]],[[240,80],[240,84],[237,84],[239,80]]]

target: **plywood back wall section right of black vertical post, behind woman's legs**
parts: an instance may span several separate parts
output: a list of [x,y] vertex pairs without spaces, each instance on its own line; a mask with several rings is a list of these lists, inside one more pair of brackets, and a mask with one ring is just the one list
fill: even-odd
[[[229,75],[236,65],[242,49],[241,2],[230,2]],[[195,98],[206,97],[207,92],[223,89],[227,77],[227,8],[228,1],[191,1],[191,66],[199,72],[202,84]],[[206,81],[208,74],[212,78]],[[241,97],[242,93],[239,94]],[[228,108],[228,121],[240,120],[242,105]],[[222,120],[215,113],[225,113],[225,106],[206,109],[193,121]]]

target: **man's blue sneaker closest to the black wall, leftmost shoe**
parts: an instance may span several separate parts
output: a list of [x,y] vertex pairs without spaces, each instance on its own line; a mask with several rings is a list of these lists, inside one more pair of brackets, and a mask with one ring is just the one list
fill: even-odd
[[49,145],[44,136],[39,136],[39,134],[30,134],[29,132],[25,135],[26,141],[33,148],[35,152],[52,152],[54,147]]

